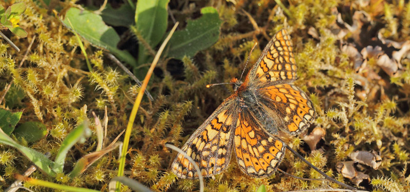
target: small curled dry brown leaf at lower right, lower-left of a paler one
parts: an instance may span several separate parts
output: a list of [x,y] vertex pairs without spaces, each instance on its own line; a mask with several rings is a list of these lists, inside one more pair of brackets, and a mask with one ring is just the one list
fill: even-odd
[[354,167],[354,161],[342,161],[336,164],[336,170],[343,177],[350,179],[358,186],[363,180],[370,181],[370,177],[367,174],[358,172]]

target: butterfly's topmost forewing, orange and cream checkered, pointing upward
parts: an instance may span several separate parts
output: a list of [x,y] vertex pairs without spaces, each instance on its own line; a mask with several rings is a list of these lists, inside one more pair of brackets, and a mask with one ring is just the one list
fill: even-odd
[[[249,82],[256,87],[279,82],[293,82],[296,79],[296,61],[293,55],[291,37],[285,29],[275,34],[248,74]],[[274,83],[278,81],[278,83]]]

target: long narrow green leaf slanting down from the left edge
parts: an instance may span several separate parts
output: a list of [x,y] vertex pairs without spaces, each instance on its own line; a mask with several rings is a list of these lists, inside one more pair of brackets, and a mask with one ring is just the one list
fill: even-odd
[[26,156],[39,169],[42,169],[43,172],[48,174],[49,176],[54,177],[56,175],[56,173],[53,172],[53,170],[51,170],[50,168],[50,165],[53,164],[53,162],[49,158],[33,150],[32,148],[16,143],[13,139],[7,136],[1,129],[0,129],[0,143],[16,148],[18,151],[20,151],[20,153]]

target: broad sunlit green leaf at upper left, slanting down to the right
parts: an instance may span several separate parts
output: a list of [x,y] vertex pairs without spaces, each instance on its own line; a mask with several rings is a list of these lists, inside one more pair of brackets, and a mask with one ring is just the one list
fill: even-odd
[[[71,29],[68,19],[74,29]],[[119,36],[112,27],[108,27],[103,22],[101,16],[90,11],[70,8],[63,23],[94,46],[107,49],[131,66],[136,66],[136,60],[129,52],[117,49]]]

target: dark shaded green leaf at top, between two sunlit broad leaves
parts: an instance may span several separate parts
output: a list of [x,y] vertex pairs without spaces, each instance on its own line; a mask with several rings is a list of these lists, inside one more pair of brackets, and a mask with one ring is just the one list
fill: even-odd
[[118,9],[114,9],[110,4],[107,4],[104,11],[101,12],[104,22],[111,26],[128,27],[134,25],[134,15],[135,11],[130,4],[122,4]]

